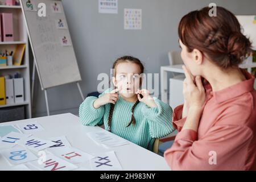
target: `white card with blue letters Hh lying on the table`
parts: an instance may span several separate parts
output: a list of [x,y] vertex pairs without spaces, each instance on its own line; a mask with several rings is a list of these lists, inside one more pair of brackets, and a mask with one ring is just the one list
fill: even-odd
[[51,147],[54,144],[56,144],[52,141],[39,139],[35,137],[17,140],[17,143],[27,148],[30,148],[31,150],[34,151],[44,150],[45,148]]

